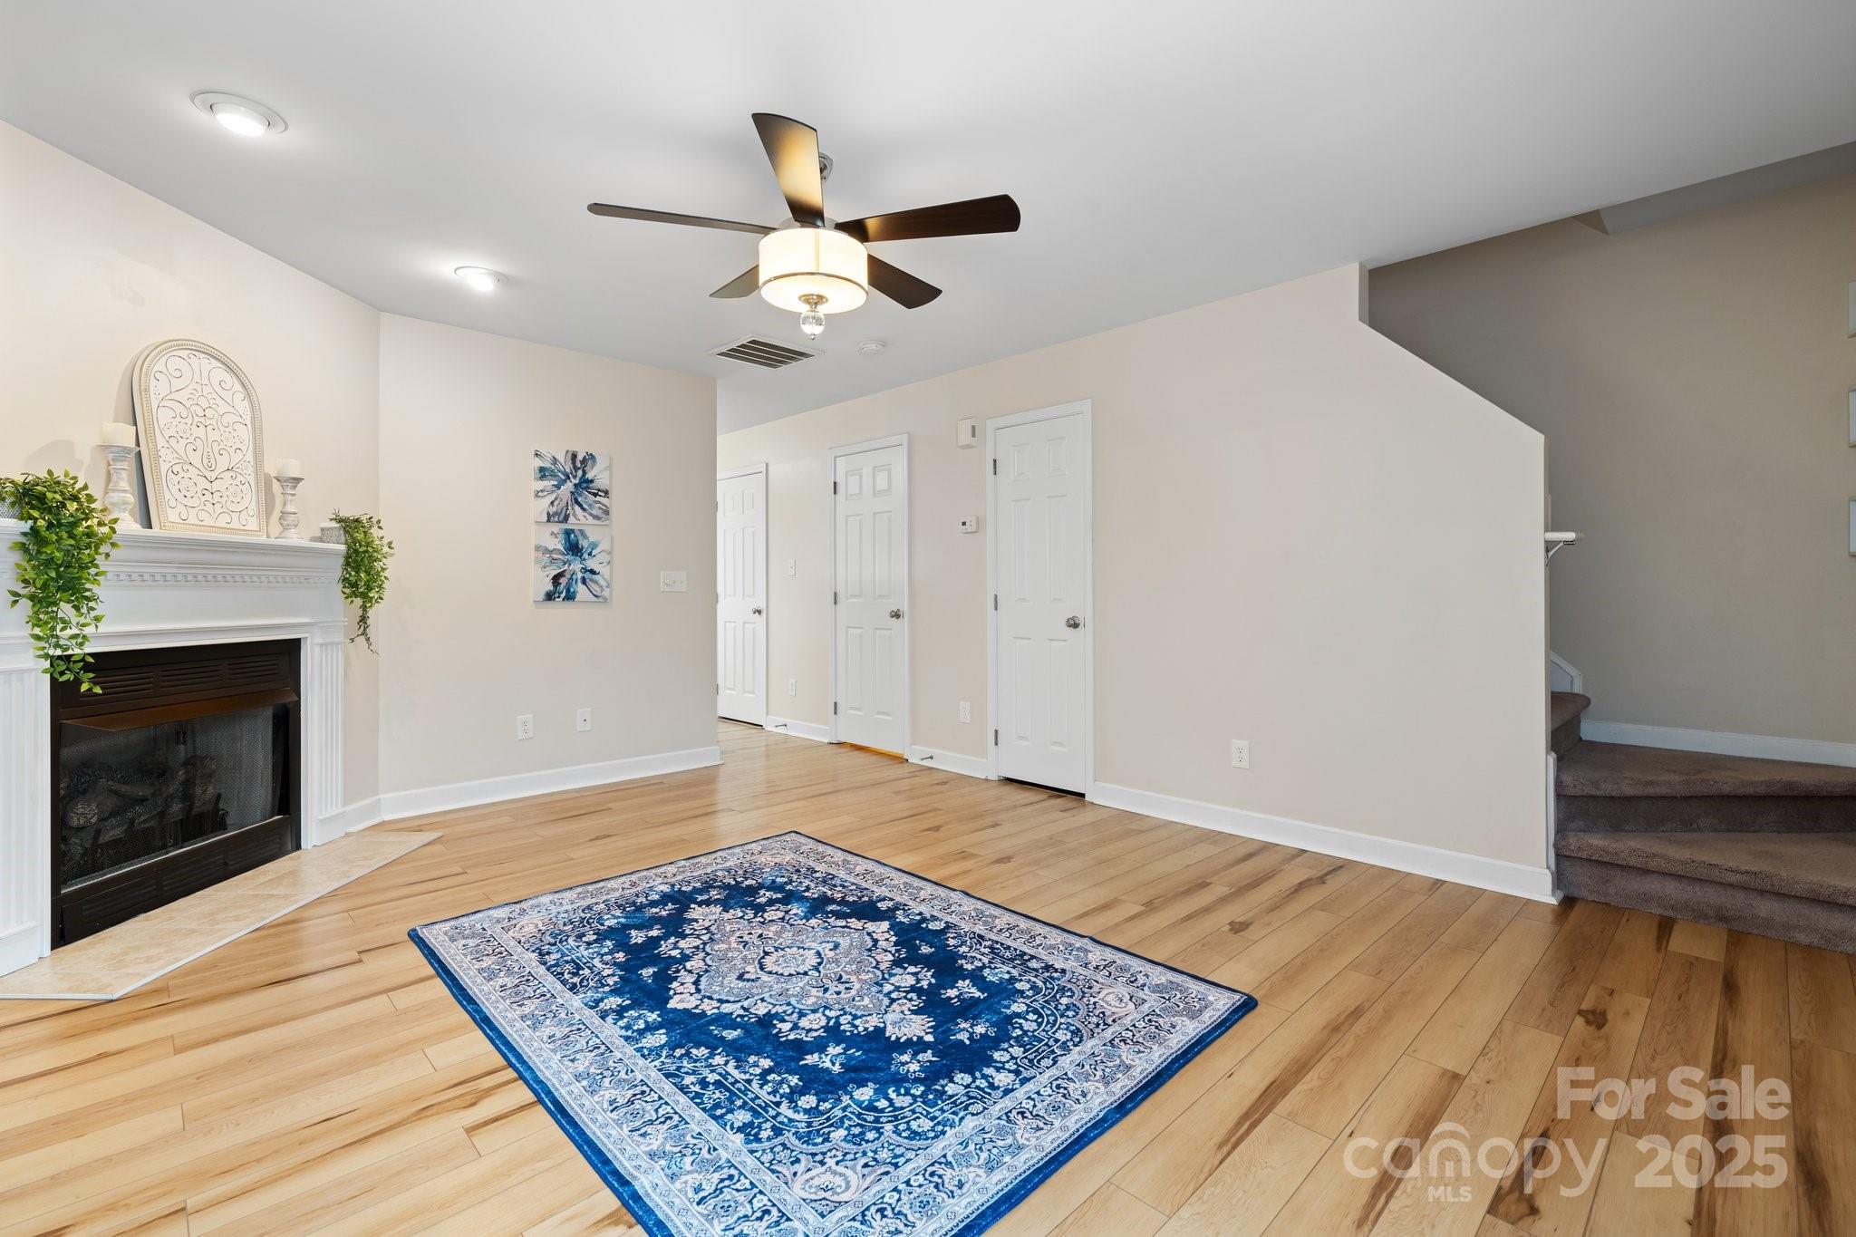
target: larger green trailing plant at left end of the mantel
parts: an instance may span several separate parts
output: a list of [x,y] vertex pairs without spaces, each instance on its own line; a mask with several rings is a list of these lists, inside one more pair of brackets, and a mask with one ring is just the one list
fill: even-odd
[[26,632],[45,673],[102,692],[91,679],[91,632],[104,621],[104,562],[117,547],[115,516],[72,473],[0,477],[0,508],[24,521],[9,606],[26,603]]

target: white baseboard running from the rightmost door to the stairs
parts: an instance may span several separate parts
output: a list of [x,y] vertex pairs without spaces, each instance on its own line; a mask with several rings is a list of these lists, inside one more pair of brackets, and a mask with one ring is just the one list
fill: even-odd
[[1236,833],[1238,836],[1260,842],[1294,846],[1305,851],[1334,855],[1336,859],[1355,859],[1381,868],[1416,872],[1438,881],[1492,888],[1498,894],[1514,894],[1516,898],[1529,898],[1533,901],[1559,901],[1553,894],[1553,875],[1546,868],[1529,868],[1527,864],[1505,859],[1464,855],[1420,842],[1379,838],[1368,833],[1353,833],[1351,829],[1312,825],[1305,820],[1264,816],[1262,812],[1245,812],[1236,807],[1180,799],[1169,794],[1114,786],[1110,783],[1093,783],[1088,799],[1104,807],[1140,812],[1141,816],[1158,816],[1160,820],[1175,820],[1182,825]]

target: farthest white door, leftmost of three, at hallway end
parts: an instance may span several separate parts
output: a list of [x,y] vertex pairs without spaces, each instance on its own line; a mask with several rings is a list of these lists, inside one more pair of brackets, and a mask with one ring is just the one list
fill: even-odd
[[715,482],[715,712],[767,723],[767,467]]

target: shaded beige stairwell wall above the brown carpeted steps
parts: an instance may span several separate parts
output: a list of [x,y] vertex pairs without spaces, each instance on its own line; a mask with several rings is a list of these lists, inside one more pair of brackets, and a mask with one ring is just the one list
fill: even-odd
[[1856,742],[1856,176],[1373,271],[1373,326],[1548,438],[1592,718]]

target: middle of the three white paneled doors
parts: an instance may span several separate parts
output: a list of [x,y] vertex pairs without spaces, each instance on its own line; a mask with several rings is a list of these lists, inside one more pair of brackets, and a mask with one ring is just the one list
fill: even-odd
[[831,740],[909,746],[908,436],[831,449]]

